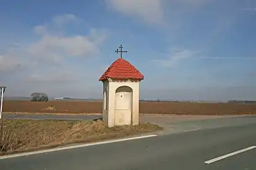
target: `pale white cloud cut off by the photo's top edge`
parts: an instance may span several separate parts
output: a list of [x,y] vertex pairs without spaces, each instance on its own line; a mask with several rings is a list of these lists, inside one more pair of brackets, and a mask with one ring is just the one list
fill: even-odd
[[147,23],[161,23],[164,17],[161,0],[106,0],[107,6],[131,17],[140,17]]

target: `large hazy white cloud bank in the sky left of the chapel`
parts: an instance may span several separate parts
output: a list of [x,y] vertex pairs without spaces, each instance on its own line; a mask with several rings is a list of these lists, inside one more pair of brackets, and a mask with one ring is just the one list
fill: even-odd
[[[31,37],[34,36],[36,40],[29,43],[17,42],[18,46],[10,46],[0,51],[0,73],[6,75],[4,79],[1,79],[2,83],[8,86],[19,83],[24,91],[30,93],[30,88],[39,88],[39,84],[44,82],[52,83],[49,85],[52,86],[58,83],[83,81],[80,76],[83,75],[84,78],[87,73],[79,74],[81,70],[69,64],[69,61],[76,62],[74,57],[77,57],[77,60],[83,59],[83,61],[95,57],[100,53],[100,47],[107,39],[108,32],[79,24],[79,27],[87,29],[88,34],[66,34],[69,33],[65,32],[66,29],[71,26],[66,23],[71,22],[82,23],[83,20],[71,14],[58,15],[48,23],[34,26],[32,32],[34,34],[31,34]],[[20,70],[21,67],[22,70]],[[87,67],[85,63],[82,71],[87,72],[85,71]],[[12,70],[20,70],[20,72],[9,73]],[[90,72],[93,71],[90,69],[88,73]],[[10,87],[9,92],[15,92],[11,88],[13,87]],[[40,88],[45,87],[40,86]]]

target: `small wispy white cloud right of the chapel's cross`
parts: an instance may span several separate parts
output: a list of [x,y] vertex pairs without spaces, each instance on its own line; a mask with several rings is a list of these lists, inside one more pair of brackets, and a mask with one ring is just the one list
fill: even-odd
[[173,67],[182,59],[193,57],[195,54],[196,52],[191,50],[174,49],[170,54],[168,54],[168,59],[158,59],[153,60],[152,62],[157,62],[157,64],[161,65],[162,67]]

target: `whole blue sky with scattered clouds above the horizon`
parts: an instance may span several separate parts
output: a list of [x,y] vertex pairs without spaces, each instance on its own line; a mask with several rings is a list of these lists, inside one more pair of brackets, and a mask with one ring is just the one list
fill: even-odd
[[141,98],[256,100],[255,20],[253,0],[2,0],[0,86],[99,98],[122,44]]

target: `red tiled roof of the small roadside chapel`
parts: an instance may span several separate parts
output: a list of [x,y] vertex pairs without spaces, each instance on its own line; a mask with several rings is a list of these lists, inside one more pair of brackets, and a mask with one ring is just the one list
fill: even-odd
[[130,62],[123,58],[118,58],[114,61],[106,72],[103,73],[99,81],[107,78],[114,79],[144,79],[144,76]]

